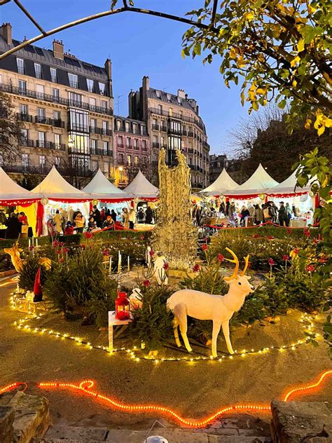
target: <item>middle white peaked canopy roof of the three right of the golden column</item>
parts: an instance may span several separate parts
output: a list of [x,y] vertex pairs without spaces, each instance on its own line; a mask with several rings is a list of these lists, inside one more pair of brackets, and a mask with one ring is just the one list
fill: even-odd
[[247,179],[247,182],[244,182],[233,191],[227,192],[226,195],[234,198],[254,197],[265,192],[266,189],[277,186],[277,184],[278,182],[272,179],[261,163],[259,163],[258,168],[254,174]]

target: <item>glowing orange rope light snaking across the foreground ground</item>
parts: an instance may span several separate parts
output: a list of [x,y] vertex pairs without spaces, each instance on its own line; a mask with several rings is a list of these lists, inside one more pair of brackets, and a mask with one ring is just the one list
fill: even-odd
[[[324,380],[326,376],[331,376],[332,370],[325,371],[321,374],[319,377],[319,380],[316,383],[312,383],[310,385],[304,385],[300,386],[298,388],[292,388],[291,390],[286,393],[286,396],[284,397],[284,402],[286,402],[289,397],[299,391],[305,391],[309,390],[314,387],[320,386],[321,382]],[[241,410],[250,410],[250,411],[262,411],[262,412],[269,412],[270,405],[269,404],[234,404],[230,405],[228,407],[224,407],[223,409],[219,409],[211,416],[207,416],[205,418],[201,418],[198,420],[190,419],[190,418],[183,418],[181,417],[177,412],[173,411],[172,409],[164,406],[158,406],[156,404],[124,404],[120,403],[116,400],[113,400],[111,397],[107,397],[106,395],[99,394],[92,390],[91,388],[95,385],[95,383],[91,380],[85,380],[82,381],[79,385],[76,385],[74,383],[39,383],[40,388],[67,388],[72,390],[78,390],[86,395],[89,395],[90,397],[93,397],[97,400],[102,400],[106,402],[107,404],[110,404],[111,407],[114,409],[120,409],[121,411],[125,411],[127,413],[137,413],[137,412],[158,412],[158,414],[164,414],[166,416],[169,416],[173,418],[175,421],[181,423],[182,425],[186,425],[189,428],[203,428],[212,421],[214,421],[217,417],[226,414],[227,412],[237,412]]]

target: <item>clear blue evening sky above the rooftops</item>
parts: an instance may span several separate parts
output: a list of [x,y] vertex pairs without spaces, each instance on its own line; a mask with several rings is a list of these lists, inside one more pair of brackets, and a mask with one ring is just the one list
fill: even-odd
[[[119,2],[119,4],[122,2]],[[22,0],[22,4],[44,29],[86,15],[106,11],[111,0]],[[184,15],[199,8],[204,0],[135,0],[135,6]],[[22,40],[40,34],[18,6],[10,2],[0,7],[0,20],[11,22],[13,38]],[[203,66],[202,57],[181,57],[181,36],[188,29],[184,23],[136,13],[120,13],[78,25],[46,39],[36,46],[52,48],[53,39],[61,39],[64,49],[76,57],[100,66],[106,57],[113,64],[114,112],[127,115],[127,95],[137,90],[144,75],[153,88],[177,93],[186,90],[200,105],[200,115],[207,126],[211,153],[223,153],[230,147],[228,130],[235,127],[247,111],[240,104],[239,88],[226,88],[219,74],[219,62]],[[118,99],[118,96],[119,99]]]

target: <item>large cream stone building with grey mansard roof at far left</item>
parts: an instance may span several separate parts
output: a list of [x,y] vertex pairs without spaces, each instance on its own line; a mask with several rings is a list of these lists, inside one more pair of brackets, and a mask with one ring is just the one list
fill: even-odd
[[[17,46],[11,25],[1,26],[0,53]],[[113,91],[111,61],[104,67],[53,50],[26,46],[0,61],[0,91],[11,96],[24,124],[20,151],[8,172],[45,174],[52,165],[90,177],[113,170]]]

